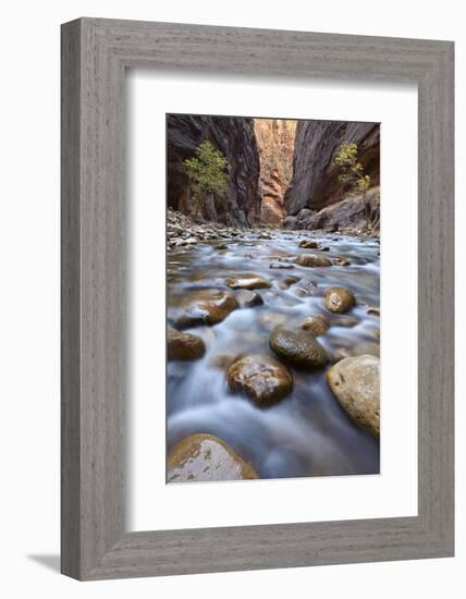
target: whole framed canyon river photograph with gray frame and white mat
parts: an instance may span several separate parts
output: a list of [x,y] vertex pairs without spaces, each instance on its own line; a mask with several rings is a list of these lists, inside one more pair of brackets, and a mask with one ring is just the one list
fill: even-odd
[[454,552],[453,42],[62,26],[62,572]]

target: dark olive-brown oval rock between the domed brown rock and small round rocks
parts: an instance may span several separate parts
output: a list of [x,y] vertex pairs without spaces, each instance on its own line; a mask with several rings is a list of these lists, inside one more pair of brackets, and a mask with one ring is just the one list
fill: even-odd
[[296,368],[321,368],[329,362],[327,350],[308,331],[277,327],[270,335],[269,344],[279,357]]

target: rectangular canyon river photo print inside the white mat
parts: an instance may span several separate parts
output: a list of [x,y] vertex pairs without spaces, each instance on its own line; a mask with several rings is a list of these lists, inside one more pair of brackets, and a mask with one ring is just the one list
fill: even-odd
[[168,484],[379,474],[380,198],[379,123],[167,114]]

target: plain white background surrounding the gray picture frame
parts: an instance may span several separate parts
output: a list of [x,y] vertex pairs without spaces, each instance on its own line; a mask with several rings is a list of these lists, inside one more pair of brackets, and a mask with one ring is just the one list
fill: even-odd
[[[3,597],[268,598],[310,596],[378,599],[416,594],[462,597],[466,567],[465,512],[457,510],[456,558],[79,584],[60,576],[59,551],[59,25],[76,16],[307,29],[454,39],[457,99],[457,231],[465,252],[466,32],[457,0],[16,0],[3,4],[1,111],[1,536]],[[463,240],[461,239],[463,236]],[[463,260],[458,259],[458,266]],[[459,274],[459,273],[458,273]],[[466,293],[458,277],[458,297]],[[465,325],[457,310],[458,330]],[[458,364],[465,359],[458,335]],[[462,393],[463,391],[463,393]],[[458,377],[458,398],[465,386]],[[457,403],[458,506],[466,503]]]

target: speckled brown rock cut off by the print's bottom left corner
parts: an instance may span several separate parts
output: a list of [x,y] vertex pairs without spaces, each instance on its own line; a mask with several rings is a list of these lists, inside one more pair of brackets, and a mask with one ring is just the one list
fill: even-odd
[[170,453],[167,482],[247,480],[259,478],[226,443],[213,435],[191,435]]

